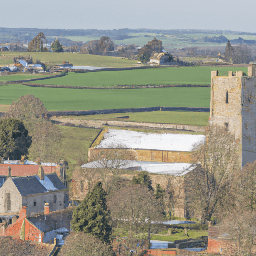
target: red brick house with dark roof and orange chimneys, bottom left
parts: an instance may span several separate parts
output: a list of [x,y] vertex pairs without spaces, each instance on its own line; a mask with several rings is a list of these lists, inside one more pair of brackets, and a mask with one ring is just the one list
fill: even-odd
[[63,236],[70,232],[70,222],[74,207],[50,212],[49,204],[44,205],[44,214],[28,217],[27,207],[23,206],[19,218],[11,225],[0,228],[1,236],[12,236],[14,239],[36,241],[41,243],[63,244]]

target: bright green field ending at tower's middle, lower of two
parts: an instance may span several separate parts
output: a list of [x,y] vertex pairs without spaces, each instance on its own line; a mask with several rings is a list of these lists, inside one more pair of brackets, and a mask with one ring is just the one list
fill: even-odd
[[210,88],[146,89],[61,89],[29,87],[21,84],[0,86],[0,104],[27,94],[38,97],[47,110],[94,110],[137,107],[209,107]]

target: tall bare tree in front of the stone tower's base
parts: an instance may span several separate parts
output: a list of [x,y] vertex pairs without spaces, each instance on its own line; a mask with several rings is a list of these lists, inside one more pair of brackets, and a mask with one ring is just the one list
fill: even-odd
[[193,158],[201,163],[201,169],[186,175],[186,205],[188,212],[205,224],[225,197],[233,174],[239,170],[239,159],[234,136],[222,127],[210,130],[194,150]]

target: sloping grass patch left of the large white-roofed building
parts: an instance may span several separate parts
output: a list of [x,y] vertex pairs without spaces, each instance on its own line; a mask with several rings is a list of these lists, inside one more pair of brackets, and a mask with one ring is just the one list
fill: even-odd
[[71,176],[76,164],[82,165],[88,160],[88,148],[95,139],[99,130],[58,126],[61,129],[61,148],[69,169],[67,175]]

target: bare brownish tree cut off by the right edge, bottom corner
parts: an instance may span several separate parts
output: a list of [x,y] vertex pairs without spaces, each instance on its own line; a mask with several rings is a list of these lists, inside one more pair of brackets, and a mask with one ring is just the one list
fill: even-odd
[[255,255],[256,161],[234,175],[230,188],[223,202],[221,223],[227,235],[227,249],[233,255]]

